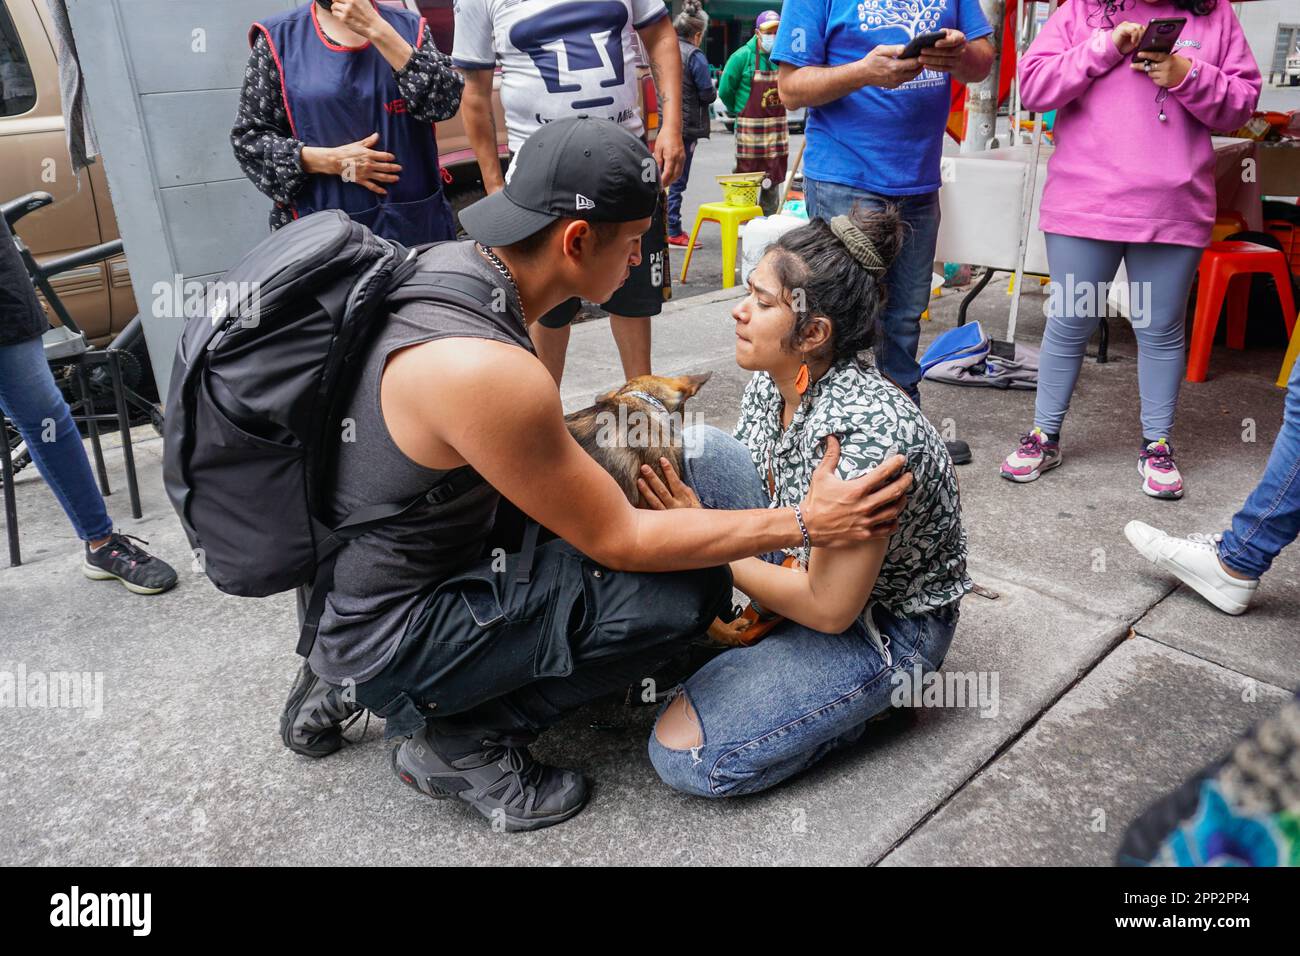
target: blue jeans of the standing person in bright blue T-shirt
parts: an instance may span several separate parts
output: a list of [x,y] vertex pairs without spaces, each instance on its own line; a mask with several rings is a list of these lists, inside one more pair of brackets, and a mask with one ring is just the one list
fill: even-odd
[[935,247],[939,243],[939,193],[918,196],[885,196],[824,179],[803,181],[803,202],[810,216],[827,221],[845,216],[854,203],[863,208],[898,207],[907,224],[898,258],[885,273],[889,299],[880,316],[876,336],[876,367],[918,406],[920,365],[920,313],[930,308],[930,277],[935,273]]

